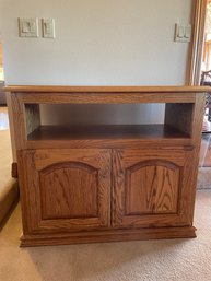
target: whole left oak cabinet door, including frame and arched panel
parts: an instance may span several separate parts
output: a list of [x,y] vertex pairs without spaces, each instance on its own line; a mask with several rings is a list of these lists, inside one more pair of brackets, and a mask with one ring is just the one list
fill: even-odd
[[109,150],[19,153],[25,233],[108,227]]

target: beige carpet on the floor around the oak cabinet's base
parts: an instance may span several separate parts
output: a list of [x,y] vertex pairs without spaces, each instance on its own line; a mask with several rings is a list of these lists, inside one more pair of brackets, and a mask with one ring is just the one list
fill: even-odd
[[20,207],[0,233],[1,281],[211,281],[211,190],[197,195],[195,239],[20,248]]

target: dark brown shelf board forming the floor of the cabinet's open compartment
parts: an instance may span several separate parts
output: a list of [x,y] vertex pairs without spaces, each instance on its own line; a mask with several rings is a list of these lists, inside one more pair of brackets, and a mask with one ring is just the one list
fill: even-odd
[[166,125],[39,126],[27,140],[183,139],[187,133]]

